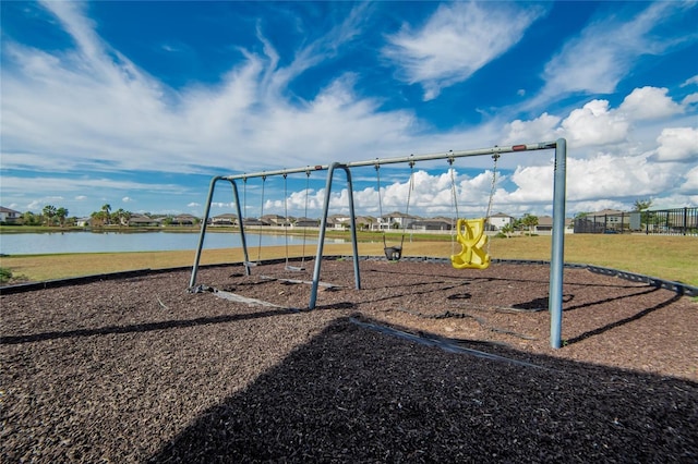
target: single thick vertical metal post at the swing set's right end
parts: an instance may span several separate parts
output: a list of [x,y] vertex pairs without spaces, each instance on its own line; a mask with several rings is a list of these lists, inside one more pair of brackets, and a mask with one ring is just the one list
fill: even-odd
[[567,142],[558,138],[555,146],[555,172],[553,183],[553,249],[550,260],[550,345],[562,346],[563,325],[563,269],[565,265],[565,181]]

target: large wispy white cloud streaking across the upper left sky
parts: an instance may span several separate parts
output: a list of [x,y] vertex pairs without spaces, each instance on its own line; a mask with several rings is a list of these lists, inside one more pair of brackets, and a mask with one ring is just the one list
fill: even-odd
[[[342,156],[333,158],[360,157],[368,147],[399,150],[416,129],[412,114],[378,112],[378,101],[357,98],[350,74],[312,101],[287,95],[290,80],[356,35],[365,5],[299,50],[286,68],[277,68],[276,52],[261,37],[264,56],[240,50],[245,59],[219,85],[177,93],[104,44],[76,7],[47,5],[77,48],[49,56],[4,44],[13,65],[2,69],[3,151],[10,154],[3,154],[3,167],[246,171],[315,163],[339,147]],[[36,155],[46,152],[52,159]],[[232,162],[231,152],[244,156]]]

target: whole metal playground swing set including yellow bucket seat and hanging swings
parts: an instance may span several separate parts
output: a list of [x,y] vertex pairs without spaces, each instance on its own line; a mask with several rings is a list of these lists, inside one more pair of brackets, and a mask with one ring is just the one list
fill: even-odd
[[[397,157],[397,158],[384,158],[384,159],[374,159],[366,161],[353,161],[353,162],[333,162],[330,164],[318,164],[314,167],[304,167],[304,168],[296,168],[296,169],[284,169],[277,171],[264,171],[257,173],[250,174],[237,174],[237,175],[216,175],[212,179],[210,185],[208,188],[208,196],[206,199],[204,220],[202,221],[201,234],[198,237],[198,246],[196,248],[196,254],[194,257],[194,265],[192,267],[192,273],[190,279],[189,291],[195,292],[196,289],[201,288],[201,285],[196,285],[196,277],[198,271],[198,266],[202,256],[203,243],[206,234],[206,225],[208,223],[208,218],[210,213],[210,206],[213,203],[214,192],[216,185],[220,181],[229,182],[232,187],[233,195],[233,204],[236,205],[238,218],[243,218],[242,208],[240,205],[240,198],[238,194],[238,180],[242,180],[245,185],[244,197],[246,202],[246,181],[252,178],[262,178],[262,207],[261,211],[264,211],[264,183],[267,176],[270,175],[282,175],[285,183],[285,228],[288,229],[288,192],[286,188],[286,179],[288,174],[292,173],[305,173],[306,182],[309,182],[311,171],[327,171],[327,181],[325,186],[325,197],[323,202],[323,213],[321,217],[320,223],[320,233],[317,239],[317,249],[314,260],[313,268],[313,280],[310,282],[312,284],[309,309],[314,309],[316,300],[317,300],[317,290],[320,286],[320,274],[321,274],[321,266],[323,258],[323,247],[325,242],[325,232],[327,227],[327,216],[329,210],[329,199],[332,195],[332,186],[334,181],[335,171],[341,170],[345,171],[347,178],[347,192],[348,192],[348,200],[349,200],[349,221],[350,221],[350,233],[351,233],[351,244],[352,244],[352,257],[353,257],[353,271],[354,271],[354,284],[357,290],[361,290],[361,277],[359,269],[359,252],[358,252],[358,241],[357,241],[357,224],[356,224],[356,212],[354,212],[354,204],[353,204],[353,186],[351,180],[351,168],[358,167],[368,167],[373,166],[376,170],[376,178],[378,184],[378,207],[381,209],[381,216],[383,217],[383,205],[381,199],[381,180],[380,180],[380,167],[382,164],[389,163],[409,163],[410,166],[410,181],[409,181],[409,191],[407,198],[407,208],[409,213],[409,204],[411,197],[411,191],[413,188],[413,167],[417,161],[426,161],[426,160],[437,160],[437,159],[446,159],[450,166],[450,174],[452,174],[452,195],[454,200],[454,208],[456,210],[456,234],[455,240],[460,245],[461,249],[459,253],[454,253],[450,256],[452,265],[457,269],[485,269],[490,266],[491,258],[489,255],[489,240],[485,233],[485,227],[490,219],[492,200],[495,193],[496,185],[496,175],[497,175],[497,160],[502,154],[507,152],[517,152],[517,151],[533,151],[533,150],[555,150],[555,163],[554,163],[554,175],[553,175],[553,234],[552,234],[552,253],[551,253],[551,279],[550,279],[550,292],[549,292],[549,310],[551,313],[551,346],[554,349],[558,349],[562,345],[562,302],[563,302],[563,268],[564,268],[564,229],[565,229],[565,181],[566,181],[566,157],[567,157],[567,143],[564,138],[559,138],[554,142],[541,142],[535,144],[520,144],[520,145],[512,145],[512,146],[494,146],[491,148],[479,148],[471,150],[461,150],[461,151],[448,151],[430,154],[430,155],[410,155],[409,157]],[[453,162],[456,158],[462,157],[473,157],[473,156],[483,156],[490,155],[494,160],[494,168],[492,173],[492,187],[490,192],[490,198],[488,203],[488,209],[484,218],[479,219],[465,219],[458,218],[458,206],[457,206],[457,188],[455,183],[455,174],[453,170]],[[308,186],[308,183],[306,183]],[[308,196],[308,187],[305,188],[305,195]],[[245,204],[246,207],[246,204]],[[308,198],[305,199],[305,208],[308,208]],[[261,213],[262,213],[261,212]],[[253,262],[249,259],[248,253],[248,244],[245,240],[245,231],[244,231],[244,221],[240,220],[240,241],[242,245],[242,252],[244,257],[244,268],[245,273],[249,276],[251,272],[251,268],[260,265],[261,261],[261,236],[257,246],[257,260]],[[383,235],[384,251],[386,258],[388,260],[399,260],[402,256],[402,246],[405,243],[405,229],[406,223],[402,223],[402,234],[400,239],[399,245],[388,246],[385,235]],[[288,234],[288,231],[286,232]],[[288,240],[288,236],[287,236]],[[288,242],[287,242],[288,243]],[[305,237],[303,239],[303,246],[305,245]],[[302,270],[304,266],[304,260],[301,262],[299,267],[292,267],[289,265],[289,256],[288,256],[288,246],[286,252],[286,264],[288,270]],[[304,253],[303,253],[304,259]]]

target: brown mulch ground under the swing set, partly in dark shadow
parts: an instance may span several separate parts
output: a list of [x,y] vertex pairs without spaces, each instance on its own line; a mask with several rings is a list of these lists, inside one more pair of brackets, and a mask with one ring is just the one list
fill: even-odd
[[566,269],[552,350],[545,266],[328,260],[296,310],[306,267],[3,294],[2,462],[698,461],[688,297]]

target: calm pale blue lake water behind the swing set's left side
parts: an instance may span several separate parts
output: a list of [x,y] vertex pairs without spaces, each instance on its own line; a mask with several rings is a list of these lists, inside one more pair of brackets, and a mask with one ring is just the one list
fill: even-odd
[[[284,246],[286,236],[245,233],[248,248]],[[327,240],[329,243],[329,240]],[[302,245],[303,237],[288,235],[289,245]],[[313,236],[305,239],[306,245],[316,245]],[[38,255],[57,253],[106,253],[106,252],[169,252],[196,249],[198,232],[57,232],[57,233],[7,233],[0,235],[0,253],[3,255]],[[242,246],[237,232],[206,233],[204,248],[239,248]]]

